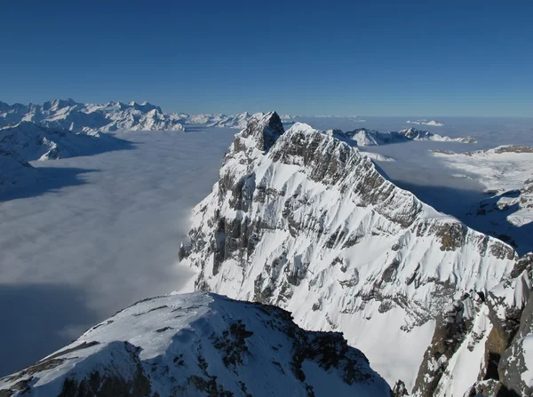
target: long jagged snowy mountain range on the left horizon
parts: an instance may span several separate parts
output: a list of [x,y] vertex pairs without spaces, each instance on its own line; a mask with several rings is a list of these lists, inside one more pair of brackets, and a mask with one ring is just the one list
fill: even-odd
[[83,104],[53,99],[43,105],[8,105],[0,102],[0,126],[32,122],[69,131],[184,131],[178,115],[163,114],[161,107],[144,102]]

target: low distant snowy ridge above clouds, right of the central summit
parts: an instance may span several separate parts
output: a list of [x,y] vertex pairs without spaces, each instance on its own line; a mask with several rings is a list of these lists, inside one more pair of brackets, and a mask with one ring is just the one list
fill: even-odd
[[380,132],[361,128],[354,131],[345,132],[347,138],[354,139],[359,147],[387,145],[392,143],[406,142],[410,140],[433,140],[439,142],[461,142],[475,143],[472,137],[449,138],[428,131],[408,128],[401,131]]

